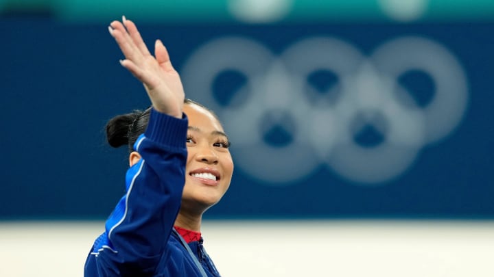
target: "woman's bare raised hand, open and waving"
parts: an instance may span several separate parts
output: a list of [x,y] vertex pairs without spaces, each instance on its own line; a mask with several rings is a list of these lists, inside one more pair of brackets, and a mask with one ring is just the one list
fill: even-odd
[[182,118],[185,98],[182,81],[173,68],[161,40],[156,40],[153,56],[136,25],[125,16],[122,22],[110,23],[108,30],[126,57],[125,60],[120,61],[121,65],[144,84],[154,109],[163,114]]

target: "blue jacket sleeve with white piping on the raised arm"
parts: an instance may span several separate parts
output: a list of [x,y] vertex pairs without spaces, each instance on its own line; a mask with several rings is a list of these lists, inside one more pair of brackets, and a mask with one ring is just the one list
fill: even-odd
[[142,159],[126,174],[126,195],[96,239],[84,276],[152,276],[172,232],[185,183],[187,118],[151,111],[134,144]]

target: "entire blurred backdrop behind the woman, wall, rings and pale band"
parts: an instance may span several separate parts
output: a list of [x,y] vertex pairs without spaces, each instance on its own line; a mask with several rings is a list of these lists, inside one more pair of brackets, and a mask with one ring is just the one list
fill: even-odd
[[1,276],[82,276],[124,194],[122,15],[233,144],[224,276],[493,276],[493,1],[0,0]]

